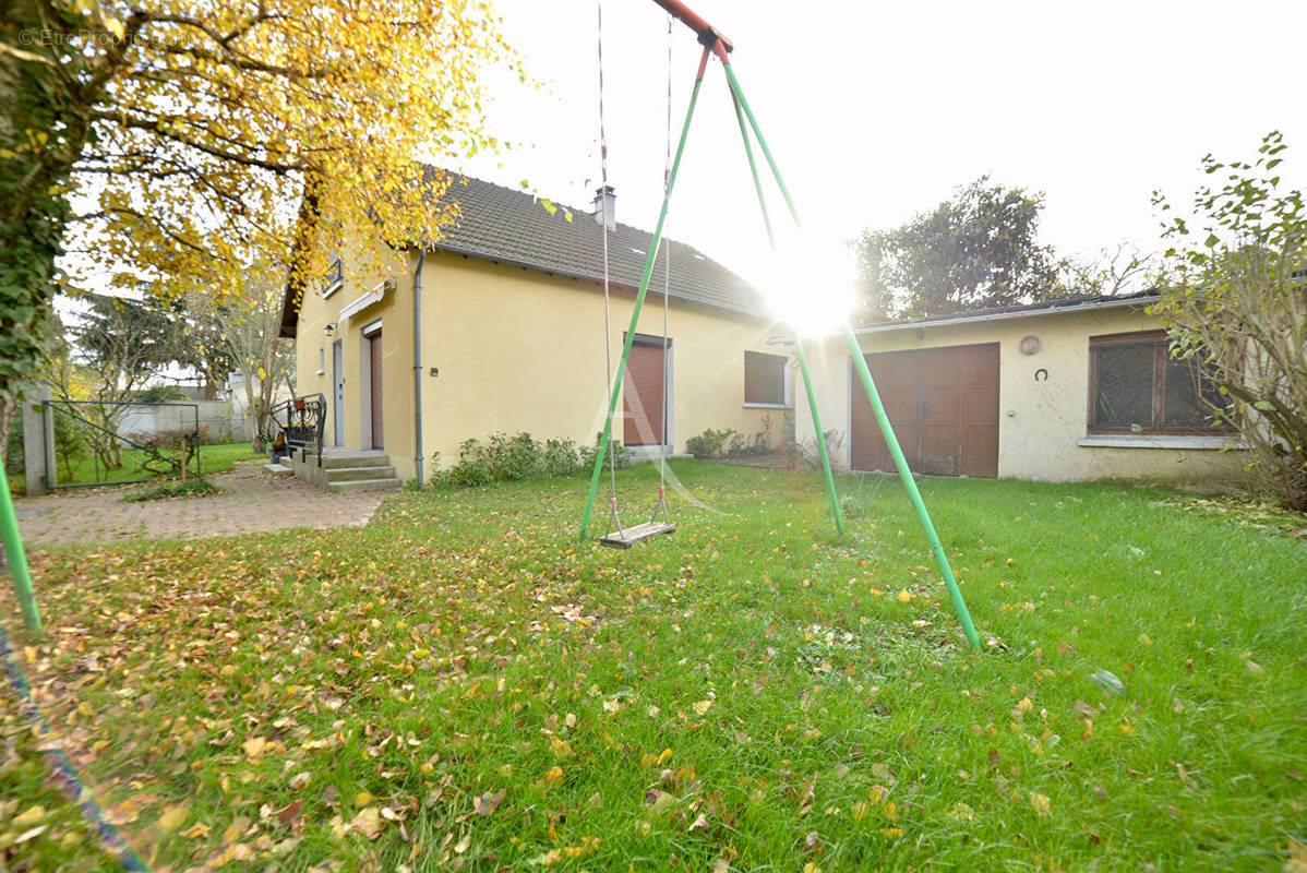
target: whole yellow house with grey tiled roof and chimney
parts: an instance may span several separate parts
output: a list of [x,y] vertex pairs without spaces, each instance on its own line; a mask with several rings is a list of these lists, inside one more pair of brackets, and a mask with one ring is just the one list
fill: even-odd
[[[612,189],[606,196],[616,370],[651,237],[613,222]],[[418,457],[425,477],[434,452],[447,467],[463,440],[497,431],[593,443],[608,401],[599,209],[567,221],[563,209],[477,179],[456,179],[444,200],[460,216],[421,271],[409,250],[392,276],[358,288],[337,263],[298,311],[288,299],[282,336],[295,337],[297,393],[325,396],[325,444],[382,450],[412,478]],[[707,427],[754,434],[767,414],[779,435],[793,376],[788,355],[767,346],[776,328],[762,295],[691,246],[667,244],[667,354],[660,255],[614,438],[676,451]]]

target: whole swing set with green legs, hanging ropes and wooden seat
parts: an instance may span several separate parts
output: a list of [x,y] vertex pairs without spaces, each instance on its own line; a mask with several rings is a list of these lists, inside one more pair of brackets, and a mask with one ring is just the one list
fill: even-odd
[[[608,358],[608,412],[604,418],[604,434],[599,442],[599,450],[595,452],[595,467],[589,477],[589,493],[586,497],[586,508],[582,514],[580,520],[580,533],[579,538],[584,541],[587,538],[587,532],[589,529],[591,515],[595,508],[595,498],[599,491],[599,480],[604,469],[604,461],[608,460],[609,469],[609,487],[612,490],[609,498],[609,519],[608,529],[604,536],[600,537],[600,544],[620,549],[629,549],[637,542],[647,540],[654,536],[672,533],[676,531],[676,525],[672,524],[670,515],[667,507],[667,446],[665,438],[660,439],[660,452],[659,452],[659,487],[657,487],[657,501],[654,507],[654,515],[650,521],[639,524],[635,527],[623,527],[621,518],[618,515],[618,502],[617,502],[617,472],[616,461],[613,460],[613,453],[610,450],[610,442],[613,436],[613,418],[617,413],[617,401],[622,393],[622,382],[626,375],[627,359],[631,354],[631,344],[635,338],[637,327],[639,325],[640,311],[644,307],[644,297],[650,289],[650,281],[654,277],[654,268],[657,261],[659,248],[663,243],[663,231],[667,225],[668,206],[672,200],[672,191],[676,187],[676,175],[681,167],[681,158],[685,154],[685,144],[690,135],[690,120],[694,116],[694,106],[699,98],[699,89],[703,84],[703,76],[707,72],[708,61],[712,56],[716,56],[721,61],[721,69],[725,72],[727,85],[731,89],[731,102],[735,107],[736,119],[740,125],[740,136],[744,141],[745,157],[749,162],[749,171],[753,176],[753,187],[758,195],[758,206],[762,210],[763,225],[767,230],[767,239],[771,243],[772,251],[776,248],[776,238],[771,227],[771,216],[767,212],[767,201],[762,191],[762,180],[758,174],[758,163],[754,158],[753,142],[750,140],[750,131],[753,137],[758,141],[758,149],[762,152],[762,157],[771,170],[771,175],[775,179],[776,187],[780,189],[780,196],[786,201],[786,208],[789,212],[789,217],[793,220],[795,226],[800,226],[799,209],[795,206],[793,197],[789,195],[789,188],[786,186],[784,179],[780,175],[780,169],[776,166],[776,159],[771,154],[771,149],[767,148],[767,140],[762,136],[762,128],[758,124],[758,119],[754,116],[753,110],[749,107],[749,101],[745,99],[744,90],[740,88],[740,80],[736,77],[735,68],[731,64],[731,52],[735,46],[731,41],[716,27],[710,25],[707,21],[695,14],[680,0],[654,0],[657,5],[667,10],[668,18],[668,31],[672,29],[672,20],[682,22],[687,26],[697,37],[701,46],[703,46],[703,52],[699,56],[699,65],[694,74],[694,89],[690,91],[690,102],[685,111],[685,122],[681,125],[681,137],[676,146],[676,157],[664,167],[664,184],[663,184],[663,205],[659,209],[657,223],[654,227],[654,239],[648,248],[648,255],[644,261],[644,272],[640,277],[640,286],[635,294],[635,306],[631,312],[631,323],[626,331],[626,340],[622,344],[622,354],[617,361],[616,372],[612,366],[612,344],[605,342],[605,355]],[[608,144],[604,131],[604,42],[603,42],[603,4],[600,0],[600,20],[599,20],[600,38],[599,38],[599,123],[600,123],[600,166],[601,166],[601,179],[604,189],[608,187]],[[670,156],[670,111],[672,111],[672,93],[670,93],[670,51],[668,54],[668,154]],[[606,209],[606,197],[603,199],[604,208]],[[608,222],[606,213],[603,216],[604,221],[604,333],[605,340],[609,338],[609,272],[608,272]],[[668,291],[669,291],[669,272],[670,272],[670,252],[667,252],[668,267],[664,272],[664,288],[663,288],[663,350],[664,362],[667,359],[667,320],[668,320]],[[850,354],[853,359],[853,369],[857,372],[859,380],[863,384],[863,389],[867,393],[867,400],[872,406],[872,413],[876,416],[876,422],[881,429],[881,435],[885,439],[885,444],[890,450],[890,455],[894,459],[894,467],[898,470],[899,478],[903,482],[903,487],[907,490],[908,499],[912,502],[912,508],[916,511],[918,521],[921,525],[921,531],[925,533],[927,544],[931,549],[931,555],[935,558],[936,567],[940,571],[940,576],[944,579],[945,588],[949,592],[949,600],[953,604],[953,610],[958,616],[958,621],[962,625],[962,630],[966,634],[967,642],[971,648],[980,648],[980,638],[976,635],[975,626],[971,623],[971,616],[967,612],[966,601],[962,599],[962,591],[958,588],[957,579],[953,576],[953,568],[949,566],[949,559],[944,553],[944,546],[940,544],[940,536],[935,529],[935,524],[931,521],[931,514],[925,508],[925,502],[921,499],[921,491],[916,486],[916,481],[912,478],[912,472],[908,469],[907,459],[903,456],[903,450],[899,447],[898,438],[894,435],[894,429],[890,425],[889,417],[885,414],[885,406],[881,404],[880,392],[876,389],[876,382],[872,379],[870,371],[867,369],[867,359],[863,357],[863,350],[857,344],[857,337],[853,335],[852,328],[847,321],[843,324],[843,336],[848,345]],[[839,494],[835,490],[835,478],[830,469],[830,456],[826,451],[826,438],[821,426],[821,417],[817,412],[817,399],[813,393],[812,375],[808,369],[808,357],[804,353],[802,337],[797,331],[793,335],[793,345],[796,350],[796,357],[799,359],[799,369],[804,379],[804,391],[808,395],[808,406],[812,412],[813,430],[817,434],[817,450],[821,456],[822,473],[826,480],[826,493],[830,498],[831,514],[835,519],[835,528],[844,533],[844,516],[839,508]],[[664,363],[665,366],[665,363]],[[664,395],[665,403],[665,395]],[[663,418],[665,422],[665,416]]]

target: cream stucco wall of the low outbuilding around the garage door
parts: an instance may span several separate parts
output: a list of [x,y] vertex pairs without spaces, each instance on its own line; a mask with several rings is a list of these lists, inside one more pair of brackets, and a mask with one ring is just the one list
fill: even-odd
[[[1159,329],[1136,307],[1042,312],[951,325],[907,327],[860,336],[865,353],[999,342],[999,476],[1046,481],[1136,480],[1183,486],[1225,487],[1242,478],[1240,451],[1218,451],[1218,438],[1129,435],[1116,446],[1086,446],[1089,414],[1089,337]],[[1039,337],[1035,354],[1022,354],[1021,338]],[[851,358],[843,341],[812,342],[814,393],[822,425],[840,433],[839,456],[850,460]],[[1038,370],[1047,380],[1035,380]],[[861,386],[859,384],[859,389]],[[802,391],[800,384],[799,391]],[[797,434],[813,439],[812,416],[800,396]],[[1098,438],[1093,442],[1111,442]],[[1144,447],[1121,446],[1144,443]],[[1176,448],[1206,443],[1205,448]]]

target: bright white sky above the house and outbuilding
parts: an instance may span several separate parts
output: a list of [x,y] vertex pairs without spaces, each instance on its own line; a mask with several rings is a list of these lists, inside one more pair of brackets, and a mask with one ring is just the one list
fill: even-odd
[[[588,208],[599,184],[595,0],[497,0],[535,86],[486,84],[514,142],[461,167]],[[732,65],[804,222],[801,244],[847,272],[842,243],[890,229],[982,175],[1046,196],[1040,242],[1093,257],[1159,247],[1150,195],[1187,205],[1206,153],[1252,158],[1281,131],[1283,184],[1307,183],[1298,35],[1307,3],[838,3],[689,0],[735,43]],[[652,229],[667,149],[668,26],[652,0],[604,0],[604,98],[617,218]],[[701,47],[670,37],[678,135]],[[759,158],[761,159],[761,158]],[[783,204],[769,189],[772,222]],[[769,273],[740,132],[710,65],[668,234],[746,278]]]

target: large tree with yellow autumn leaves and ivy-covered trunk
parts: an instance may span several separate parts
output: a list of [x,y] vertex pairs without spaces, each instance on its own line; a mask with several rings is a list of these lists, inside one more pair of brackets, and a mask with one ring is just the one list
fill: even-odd
[[448,180],[420,162],[497,145],[499,24],[489,0],[0,3],[0,425],[80,284],[63,248],[223,299],[252,264],[302,290],[346,229],[437,237]]

